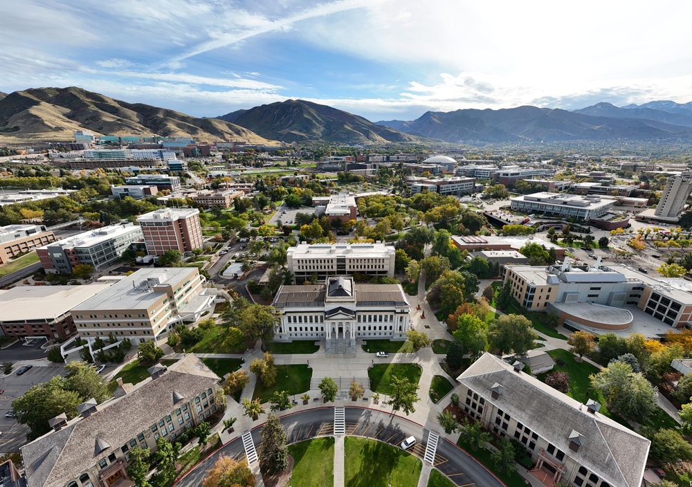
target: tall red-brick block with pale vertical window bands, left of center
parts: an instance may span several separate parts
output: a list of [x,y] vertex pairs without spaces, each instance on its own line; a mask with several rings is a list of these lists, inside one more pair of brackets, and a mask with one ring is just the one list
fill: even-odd
[[165,208],[137,217],[148,255],[166,250],[192,252],[202,247],[202,228],[197,208]]

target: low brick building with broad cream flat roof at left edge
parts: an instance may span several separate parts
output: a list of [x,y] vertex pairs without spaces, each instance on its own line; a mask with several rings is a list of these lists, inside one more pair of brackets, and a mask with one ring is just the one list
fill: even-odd
[[77,331],[71,309],[108,286],[16,286],[0,290],[0,329],[16,340],[64,340]]

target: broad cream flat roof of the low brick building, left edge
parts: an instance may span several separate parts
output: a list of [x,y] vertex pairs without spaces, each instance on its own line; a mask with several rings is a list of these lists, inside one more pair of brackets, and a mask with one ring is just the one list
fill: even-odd
[[57,318],[110,286],[110,283],[87,286],[17,286],[0,291],[0,321]]

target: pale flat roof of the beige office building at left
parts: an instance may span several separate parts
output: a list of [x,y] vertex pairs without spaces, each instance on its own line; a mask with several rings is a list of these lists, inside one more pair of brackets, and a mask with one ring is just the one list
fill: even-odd
[[[166,293],[153,291],[156,284],[177,284],[194,273],[194,267],[140,269],[120,282],[107,287],[75,310],[145,309]],[[147,285],[148,284],[148,285]]]

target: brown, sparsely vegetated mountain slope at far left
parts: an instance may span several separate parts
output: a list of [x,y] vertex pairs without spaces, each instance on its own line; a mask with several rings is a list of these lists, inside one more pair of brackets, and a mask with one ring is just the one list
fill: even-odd
[[230,122],[196,118],[75,88],[15,91],[0,100],[0,140],[71,140],[73,130],[103,135],[190,136],[197,140],[271,142]]

